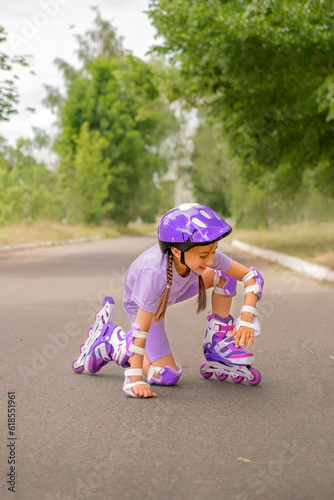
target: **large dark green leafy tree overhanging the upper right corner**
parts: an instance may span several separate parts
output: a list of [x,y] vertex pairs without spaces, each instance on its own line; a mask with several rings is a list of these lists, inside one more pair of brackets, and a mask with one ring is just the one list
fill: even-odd
[[325,0],[151,0],[180,92],[224,125],[250,181],[294,194],[304,172],[334,195],[333,4]]

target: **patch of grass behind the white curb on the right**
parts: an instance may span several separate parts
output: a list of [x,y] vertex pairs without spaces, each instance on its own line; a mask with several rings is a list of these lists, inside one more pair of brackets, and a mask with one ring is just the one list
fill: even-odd
[[334,222],[292,224],[274,229],[234,229],[232,238],[334,269]]

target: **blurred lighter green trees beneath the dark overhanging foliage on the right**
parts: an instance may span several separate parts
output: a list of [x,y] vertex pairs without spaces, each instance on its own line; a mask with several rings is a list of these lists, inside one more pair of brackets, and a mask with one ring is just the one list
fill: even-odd
[[261,182],[246,181],[240,175],[241,162],[231,157],[222,129],[219,121],[204,115],[194,136],[188,171],[196,201],[230,216],[238,227],[271,228],[277,223],[333,220],[334,199],[324,197],[307,175],[293,197],[274,192],[272,172],[267,172]]

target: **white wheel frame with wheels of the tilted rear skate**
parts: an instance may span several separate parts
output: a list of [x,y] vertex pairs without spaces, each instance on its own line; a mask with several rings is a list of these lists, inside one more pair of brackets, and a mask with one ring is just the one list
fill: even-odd
[[88,353],[91,352],[92,346],[96,339],[100,336],[103,327],[107,323],[111,323],[115,313],[115,302],[112,297],[105,297],[102,302],[102,309],[95,315],[95,323],[88,329],[88,339],[80,346],[80,356],[75,358],[72,363],[72,368],[76,373],[81,373],[85,369],[85,361]]

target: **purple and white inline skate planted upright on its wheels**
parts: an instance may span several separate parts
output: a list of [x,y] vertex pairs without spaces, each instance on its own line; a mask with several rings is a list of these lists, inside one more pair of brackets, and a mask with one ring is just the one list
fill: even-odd
[[206,362],[200,366],[201,375],[209,378],[214,373],[218,380],[230,375],[233,382],[239,384],[246,377],[251,385],[260,383],[258,370],[251,368],[254,356],[243,347],[236,347],[235,338],[229,337],[234,325],[233,317],[221,318],[216,314],[207,317],[207,329],[203,350]]

